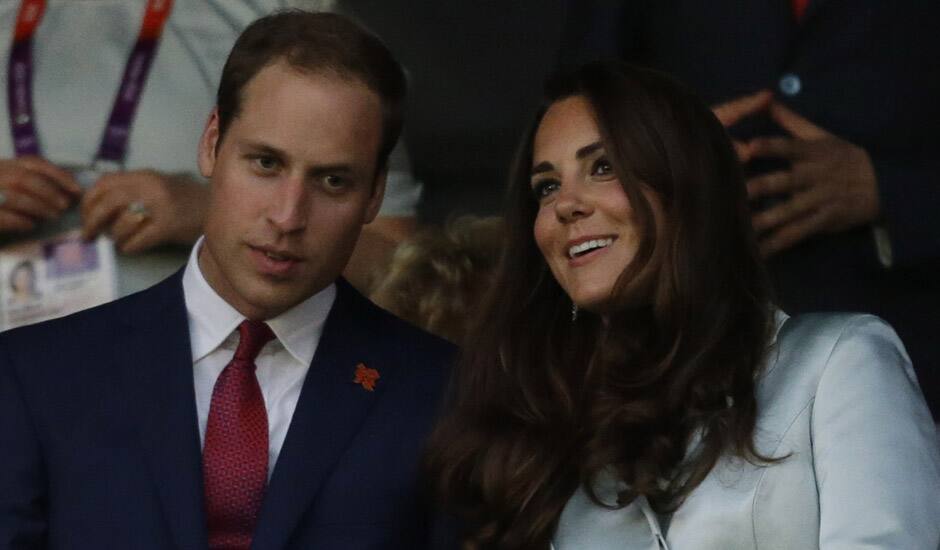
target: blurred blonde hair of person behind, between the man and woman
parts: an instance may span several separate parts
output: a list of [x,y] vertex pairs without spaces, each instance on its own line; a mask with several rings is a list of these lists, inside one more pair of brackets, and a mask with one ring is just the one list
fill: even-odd
[[501,218],[478,216],[418,231],[395,250],[372,300],[428,332],[463,343],[474,308],[492,285],[503,233]]

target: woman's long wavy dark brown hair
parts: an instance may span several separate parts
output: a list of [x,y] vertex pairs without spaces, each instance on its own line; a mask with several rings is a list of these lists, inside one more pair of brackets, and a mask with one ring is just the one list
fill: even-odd
[[[465,522],[465,548],[547,548],[579,485],[611,505],[594,493],[601,472],[629,487],[613,506],[644,495],[667,511],[723,453],[772,461],[752,437],[771,297],[724,128],[683,86],[625,64],[586,65],[546,91],[510,182],[497,281],[427,453],[434,490]],[[630,305],[606,321],[572,321],[532,233],[534,134],[572,96],[593,106],[642,235],[614,290]],[[650,268],[646,299],[626,299]]]

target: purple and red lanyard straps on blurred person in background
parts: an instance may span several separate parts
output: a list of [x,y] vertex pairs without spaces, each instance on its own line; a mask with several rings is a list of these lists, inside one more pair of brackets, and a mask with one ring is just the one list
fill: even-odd
[[[127,155],[134,113],[140,103],[150,66],[163,34],[163,25],[170,15],[173,0],[149,0],[137,43],[127,58],[124,76],[117,97],[111,107],[111,116],[101,136],[101,145],[95,162],[106,161],[122,165]],[[36,134],[33,110],[33,35],[42,21],[46,0],[22,0],[16,18],[13,46],[7,66],[7,109],[16,156],[40,154],[39,136]]]

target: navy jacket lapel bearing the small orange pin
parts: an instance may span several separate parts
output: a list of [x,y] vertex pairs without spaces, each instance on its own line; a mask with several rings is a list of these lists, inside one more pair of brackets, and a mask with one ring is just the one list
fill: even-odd
[[[337,282],[336,302],[265,495],[252,544],[256,550],[286,546],[389,382],[391,369],[382,368],[375,346],[368,345],[377,335],[364,328],[369,324],[365,304],[348,283]],[[380,370],[374,391],[353,382],[359,363]]]

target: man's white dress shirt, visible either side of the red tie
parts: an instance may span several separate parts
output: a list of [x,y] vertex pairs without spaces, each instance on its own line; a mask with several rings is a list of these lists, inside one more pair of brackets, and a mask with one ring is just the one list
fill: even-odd
[[[237,328],[245,320],[245,316],[223,300],[203,277],[197,261],[202,242],[200,238],[193,246],[183,273],[200,445],[205,443],[215,381],[235,355]],[[258,354],[255,373],[268,413],[268,478],[277,463],[300,389],[335,298],[336,285],[330,285],[266,321],[276,338]]]

